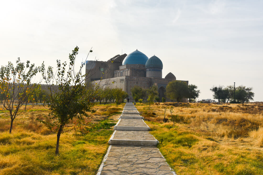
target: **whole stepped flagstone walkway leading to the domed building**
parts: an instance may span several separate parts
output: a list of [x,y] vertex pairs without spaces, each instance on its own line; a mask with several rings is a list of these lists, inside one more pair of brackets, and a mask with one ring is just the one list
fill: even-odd
[[[135,108],[135,110],[126,110]],[[149,133],[132,103],[126,103],[109,140],[109,149],[97,175],[159,174],[175,175],[156,147],[158,141]]]

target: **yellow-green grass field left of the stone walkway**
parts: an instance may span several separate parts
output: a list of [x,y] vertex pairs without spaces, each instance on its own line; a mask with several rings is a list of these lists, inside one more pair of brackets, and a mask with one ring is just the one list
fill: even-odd
[[72,120],[60,136],[58,156],[56,133],[36,120],[48,114],[43,107],[18,116],[12,134],[8,117],[0,114],[0,174],[96,174],[113,133],[114,114],[119,116],[123,108],[114,106],[95,106],[82,134],[79,129],[75,134]]

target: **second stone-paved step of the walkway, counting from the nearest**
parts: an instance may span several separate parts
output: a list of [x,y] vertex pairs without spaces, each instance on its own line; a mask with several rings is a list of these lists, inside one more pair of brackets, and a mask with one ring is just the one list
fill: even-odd
[[158,141],[148,131],[115,130],[108,143],[110,145],[156,146]]

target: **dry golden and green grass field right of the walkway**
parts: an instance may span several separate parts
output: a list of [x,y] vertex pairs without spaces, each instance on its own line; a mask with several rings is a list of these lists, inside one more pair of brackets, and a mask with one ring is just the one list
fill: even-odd
[[[172,105],[178,123],[163,122]],[[155,103],[138,105],[178,174],[263,174],[263,104]],[[166,111],[169,117],[169,109]]]

